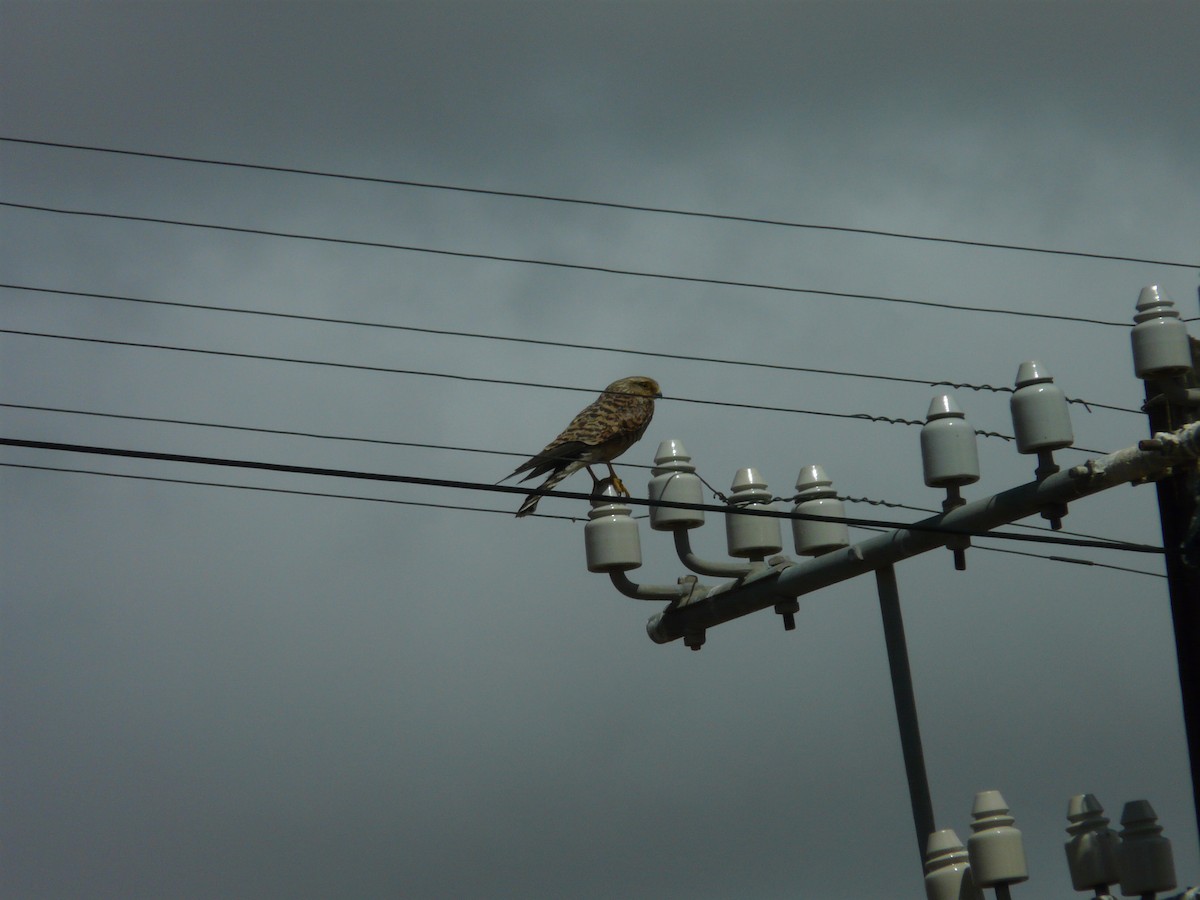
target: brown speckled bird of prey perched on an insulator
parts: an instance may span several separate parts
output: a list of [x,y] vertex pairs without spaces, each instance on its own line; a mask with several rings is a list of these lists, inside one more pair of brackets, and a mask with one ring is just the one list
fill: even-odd
[[[546,444],[546,449],[532,460],[517,466],[512,475],[528,472],[522,481],[550,473],[541,486],[546,490],[574,475],[580,469],[587,469],[592,481],[600,479],[592,467],[605,463],[612,484],[626,497],[629,491],[617,478],[612,461],[629,450],[646,433],[646,426],[654,415],[654,400],[661,397],[659,383],[646,376],[631,376],[613,382],[596,400],[571,419],[563,433]],[[517,516],[528,516],[538,508],[540,494],[526,497]]]

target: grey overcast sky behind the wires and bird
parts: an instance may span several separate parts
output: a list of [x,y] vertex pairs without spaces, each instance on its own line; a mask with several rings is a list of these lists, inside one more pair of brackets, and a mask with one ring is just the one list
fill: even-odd
[[[420,374],[4,334],[0,402],[72,412],[4,407],[0,433],[493,482],[648,374],[666,397],[623,457],[637,496],[632,466],[676,438],[722,491],[755,466],[786,496],[820,463],[845,494],[937,508],[919,428],[842,416],[919,420],[946,388],[634,352],[996,386],[1037,359],[1135,410],[1140,288],[1198,314],[1196,34],[1194,2],[0,0],[4,138],[1159,260],[7,140],[7,203],[792,289],[5,206],[5,329]],[[1008,395],[955,397],[1012,432]],[[1072,409],[1064,463],[1145,436]],[[979,456],[968,499],[1032,478],[1012,443]],[[874,578],[806,596],[794,632],[768,611],[691,653],[586,571],[578,500],[518,521],[482,491],[0,461],[235,486],[0,469],[5,896],[922,895]],[[1150,487],[1064,526],[1160,541]],[[694,540],[726,558],[718,517]],[[1068,798],[1115,823],[1145,798],[1196,883],[1160,558],[977,545],[965,572],[898,566],[937,824],[965,839],[998,788],[1032,872],[1014,896],[1061,898]],[[644,523],[642,547],[635,580],[684,574]]]

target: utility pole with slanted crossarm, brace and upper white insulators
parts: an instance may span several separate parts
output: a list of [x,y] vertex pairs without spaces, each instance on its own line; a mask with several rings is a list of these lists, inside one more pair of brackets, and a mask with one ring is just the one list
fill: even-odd
[[[1142,289],[1134,323],[1134,371],[1146,385],[1145,409],[1152,434],[1136,446],[1067,469],[1056,464],[1054,452],[1074,443],[1067,400],[1045,368],[1030,360],[1018,370],[1009,406],[1018,451],[1037,455],[1033,481],[966,502],[960,488],[979,478],[976,432],[953,397],[943,395],[934,400],[922,428],[925,484],[947,492],[941,515],[851,545],[841,500],[822,467],[802,469],[790,515],[772,508],[773,494],[757,469],[740,469],[721,511],[728,554],[745,562],[728,563],[702,559],[692,551],[689,532],[703,526],[703,512],[709,508],[702,503],[702,482],[691,456],[682,442],[666,440],[655,455],[649,500],[630,498],[629,503],[650,506],[650,528],[673,534],[680,563],[695,575],[683,576],[674,584],[638,584],[629,578],[626,572],[642,564],[637,522],[630,505],[612,487],[592,498],[590,521],[584,527],[588,570],[607,574],[613,587],[626,596],[667,601],[647,623],[650,640],[682,640],[692,650],[704,646],[710,629],[762,610],[774,608],[785,630],[793,630],[800,596],[874,572],[913,824],[924,864],[926,850],[930,859],[942,859],[962,848],[942,846],[947,835],[926,844],[937,833],[894,565],[946,547],[954,553],[955,569],[961,570],[966,568],[971,534],[988,533],[1031,515],[1040,515],[1057,530],[1068,503],[1117,485],[1153,481],[1162,514],[1193,802],[1200,829],[1200,360],[1194,359],[1200,356],[1200,343],[1188,336],[1175,304],[1157,286]],[[780,554],[780,516],[792,518],[796,552],[808,558]],[[704,584],[697,575],[728,580]],[[1008,883],[1024,878],[1024,874],[1006,875],[1003,884],[988,883],[1007,894]]]

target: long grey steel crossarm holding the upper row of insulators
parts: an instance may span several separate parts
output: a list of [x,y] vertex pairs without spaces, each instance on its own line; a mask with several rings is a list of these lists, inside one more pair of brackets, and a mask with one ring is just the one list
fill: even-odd
[[685,632],[702,632],[714,625],[772,607],[781,599],[798,598],[942,547],[954,540],[955,532],[990,530],[1037,515],[1056,504],[1078,500],[1118,485],[1153,479],[1172,464],[1181,461],[1194,462],[1200,456],[1200,424],[1158,433],[1152,440],[1142,442],[1142,445],[1148,449],[1135,446],[1118,450],[1056,472],[1039,481],[931,516],[918,522],[919,528],[899,528],[845,550],[718,584],[702,599],[656,613],[647,623],[647,631],[655,643],[670,643]]

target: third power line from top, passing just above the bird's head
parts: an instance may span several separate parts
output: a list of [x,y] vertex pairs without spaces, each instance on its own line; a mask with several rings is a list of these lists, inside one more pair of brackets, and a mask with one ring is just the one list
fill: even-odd
[[[361,319],[342,319],[331,318],[326,316],[310,316],[304,313],[294,312],[276,312],[271,310],[245,310],[238,306],[217,306],[212,304],[190,304],[181,300],[152,300],[140,296],[128,296],[125,294],[101,294],[88,290],[62,290],[56,288],[43,288],[32,287],[29,284],[8,284],[0,283],[0,288],[6,290],[28,290],[42,294],[61,294],[65,296],[80,296],[80,298],[95,298],[97,300],[116,300],[122,302],[132,304],[145,304],[151,306],[168,306],[182,310],[200,310],[206,312],[227,312],[238,313],[244,316],[260,316],[266,318],[280,318],[280,319],[292,319],[296,322],[312,322],[318,324],[328,325],[353,325],[359,328],[378,328],[389,329],[394,331],[408,331],[413,334],[424,335],[439,335],[445,337],[468,337],[482,341],[500,341],[510,343],[523,343],[538,347],[557,347],[563,349],[572,350],[595,350],[600,353],[624,353],[632,356],[646,356],[650,359],[670,359],[670,360],[685,360],[688,362],[712,362],[725,366],[746,366],[751,368],[767,368],[782,372],[803,372],[806,374],[829,374],[840,376],[845,378],[866,378],[881,382],[895,382],[900,384],[919,384],[926,388],[938,388],[947,386],[955,390],[973,390],[973,391],[990,391],[994,394],[1012,394],[1013,389],[1008,386],[995,386],[991,384],[971,384],[967,382],[931,382],[924,378],[906,378],[902,376],[883,376],[883,374],[869,374],[865,372],[846,372],[832,368],[814,368],[810,366],[786,366],[776,362],[755,362],[750,360],[732,360],[722,359],[718,356],[698,356],[695,354],[683,354],[683,353],[662,353],[659,350],[635,350],[624,347],[601,347],[599,344],[586,344],[586,343],[571,343],[566,341],[547,341],[542,338],[534,337],[512,337],[508,335],[488,335],[478,331],[452,331],[449,329],[436,329],[436,328],[421,328],[416,325],[397,325],[388,322],[365,322]],[[1111,409],[1118,413],[1133,413],[1136,415],[1141,414],[1139,409],[1130,409],[1128,407],[1111,406],[1108,403],[1096,403],[1088,400],[1080,400],[1075,397],[1068,398],[1069,403],[1078,403],[1087,409]]]

